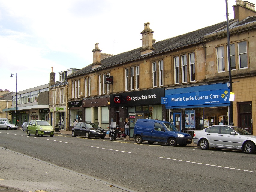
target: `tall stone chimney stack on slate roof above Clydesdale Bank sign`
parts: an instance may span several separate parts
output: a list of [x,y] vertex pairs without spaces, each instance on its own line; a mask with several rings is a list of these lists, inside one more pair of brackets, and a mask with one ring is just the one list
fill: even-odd
[[155,50],[153,48],[153,43],[155,43],[155,40],[153,39],[153,31],[149,27],[149,22],[144,23],[144,30],[140,33],[142,35],[142,49],[141,49],[141,55],[148,54]]

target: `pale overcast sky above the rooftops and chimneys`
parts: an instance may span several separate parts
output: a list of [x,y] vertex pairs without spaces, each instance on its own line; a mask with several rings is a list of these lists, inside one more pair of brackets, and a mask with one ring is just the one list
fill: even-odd
[[225,15],[225,0],[0,0],[0,89],[16,92],[11,73],[17,91],[47,84],[51,67],[57,81],[60,71],[91,64],[95,43],[114,55],[141,47],[146,22],[161,41]]

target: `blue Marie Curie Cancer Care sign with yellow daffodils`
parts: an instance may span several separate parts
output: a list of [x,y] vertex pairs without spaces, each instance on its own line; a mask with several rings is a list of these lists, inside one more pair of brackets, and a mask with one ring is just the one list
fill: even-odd
[[229,101],[229,89],[219,89],[212,91],[197,91],[190,93],[179,93],[168,96],[168,106],[185,105],[208,105],[226,104]]

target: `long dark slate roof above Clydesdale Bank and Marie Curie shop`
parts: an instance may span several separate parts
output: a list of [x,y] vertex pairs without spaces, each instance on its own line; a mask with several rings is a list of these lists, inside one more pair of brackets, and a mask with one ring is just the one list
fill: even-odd
[[[236,24],[236,26],[246,24],[248,22],[255,21],[256,17],[249,17],[242,21],[242,23]],[[233,22],[234,19],[230,19],[229,22]],[[152,57],[153,55],[161,54],[163,52],[167,52],[170,50],[174,50],[177,48],[181,48],[184,46],[189,46],[197,43],[201,43],[204,39],[204,35],[210,34],[216,31],[219,31],[220,29],[223,29],[224,26],[226,26],[227,22],[220,22],[217,24],[214,24],[212,26],[204,27],[202,29],[198,29],[196,31],[192,31],[183,35],[179,35],[176,37],[168,38],[162,41],[158,41],[155,44],[153,44],[153,48],[155,49],[152,53],[141,56],[140,50],[142,47],[133,49],[124,53],[120,53],[118,55],[113,55],[107,58],[104,58],[101,60],[101,66],[98,68],[95,68],[92,70],[92,64],[83,67],[80,70],[77,70],[74,73],[71,73],[67,76],[67,79],[75,76],[80,76],[86,73],[91,73],[96,70],[102,70],[104,68],[108,68],[111,66],[115,66],[118,64],[124,64],[131,61],[136,61],[138,59],[146,58],[146,57]]]

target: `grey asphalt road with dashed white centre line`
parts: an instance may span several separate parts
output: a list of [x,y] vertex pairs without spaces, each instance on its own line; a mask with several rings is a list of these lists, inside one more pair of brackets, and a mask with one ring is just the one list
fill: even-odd
[[[0,130],[0,146],[138,192],[255,191],[256,153]],[[17,160],[17,163],[19,160]]]

